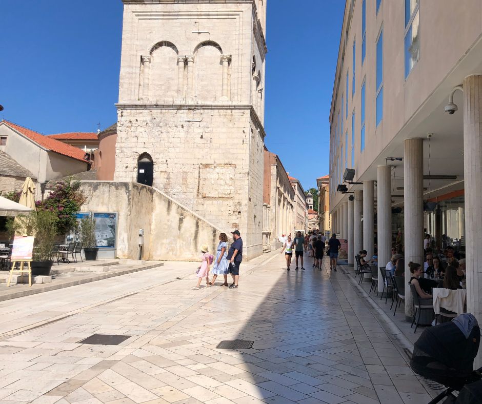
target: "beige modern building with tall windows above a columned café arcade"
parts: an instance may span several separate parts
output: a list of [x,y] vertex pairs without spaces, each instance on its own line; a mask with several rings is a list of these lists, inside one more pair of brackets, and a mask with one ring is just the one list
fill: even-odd
[[[347,0],[335,77],[330,212],[350,264],[376,243],[385,267],[398,229],[405,262],[423,264],[429,232],[466,256],[467,310],[481,322],[480,2]],[[408,284],[405,296],[408,317]]]

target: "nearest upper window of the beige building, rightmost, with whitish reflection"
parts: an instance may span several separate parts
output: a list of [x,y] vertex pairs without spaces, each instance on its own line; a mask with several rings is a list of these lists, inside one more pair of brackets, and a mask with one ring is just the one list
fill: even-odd
[[405,78],[420,57],[418,0],[405,0]]

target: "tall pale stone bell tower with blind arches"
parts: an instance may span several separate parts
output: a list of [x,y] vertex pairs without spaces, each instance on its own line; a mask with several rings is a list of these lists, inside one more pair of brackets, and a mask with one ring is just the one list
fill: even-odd
[[123,0],[114,180],[239,229],[248,258],[262,253],[266,1]]

